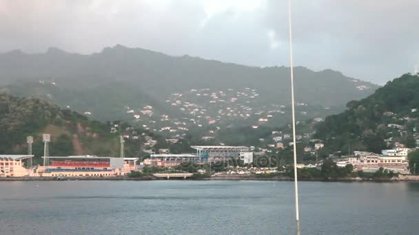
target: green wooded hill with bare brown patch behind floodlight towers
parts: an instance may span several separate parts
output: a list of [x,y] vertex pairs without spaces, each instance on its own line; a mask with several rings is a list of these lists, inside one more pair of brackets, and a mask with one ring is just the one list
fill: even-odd
[[[111,127],[118,126],[115,133]],[[16,98],[0,93],[0,154],[27,153],[26,136],[34,137],[35,161],[43,155],[42,134],[51,134],[50,155],[119,155],[119,135],[136,133],[139,139],[125,139],[125,155],[141,154],[143,130],[123,122],[102,123],[79,113],[59,109],[37,98]]]

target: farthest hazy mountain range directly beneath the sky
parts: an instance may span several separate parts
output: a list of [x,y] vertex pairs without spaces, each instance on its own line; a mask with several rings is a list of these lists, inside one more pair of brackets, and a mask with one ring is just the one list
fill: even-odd
[[[45,54],[12,51],[0,54],[3,85],[17,80],[51,78],[63,87],[98,87],[127,82],[153,98],[189,89],[251,87],[263,102],[289,102],[289,68],[247,67],[190,56],[167,56],[145,49],[116,45],[102,52],[81,55],[50,48]],[[296,67],[296,99],[330,107],[371,94],[378,86],[343,76],[336,71]],[[162,99],[163,100],[163,99]]]

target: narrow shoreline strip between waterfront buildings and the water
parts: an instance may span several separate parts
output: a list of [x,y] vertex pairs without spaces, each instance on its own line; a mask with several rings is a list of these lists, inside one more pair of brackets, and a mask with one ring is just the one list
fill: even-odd
[[[254,177],[252,175],[215,175],[209,178],[181,179],[181,178],[156,178],[147,177],[1,177],[0,181],[294,181],[292,177]],[[419,176],[401,175],[391,179],[370,179],[370,178],[338,178],[338,179],[298,179],[298,181],[318,181],[318,182],[403,182],[419,181]]]

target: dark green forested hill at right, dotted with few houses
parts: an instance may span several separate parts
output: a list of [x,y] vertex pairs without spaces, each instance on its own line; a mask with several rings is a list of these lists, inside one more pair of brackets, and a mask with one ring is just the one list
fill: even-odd
[[369,150],[380,153],[396,142],[413,148],[419,139],[419,77],[405,74],[371,96],[347,103],[347,110],[331,115],[317,128],[325,153]]

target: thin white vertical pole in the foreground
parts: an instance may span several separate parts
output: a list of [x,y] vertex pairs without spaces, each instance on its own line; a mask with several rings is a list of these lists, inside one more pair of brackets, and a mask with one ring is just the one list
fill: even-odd
[[294,188],[296,201],[296,234],[300,234],[300,214],[298,210],[298,179],[297,179],[297,143],[296,143],[296,111],[294,104],[294,63],[292,58],[292,17],[291,0],[288,0],[288,29],[289,29],[289,68],[291,71],[291,107],[292,107],[292,140],[294,148]]

